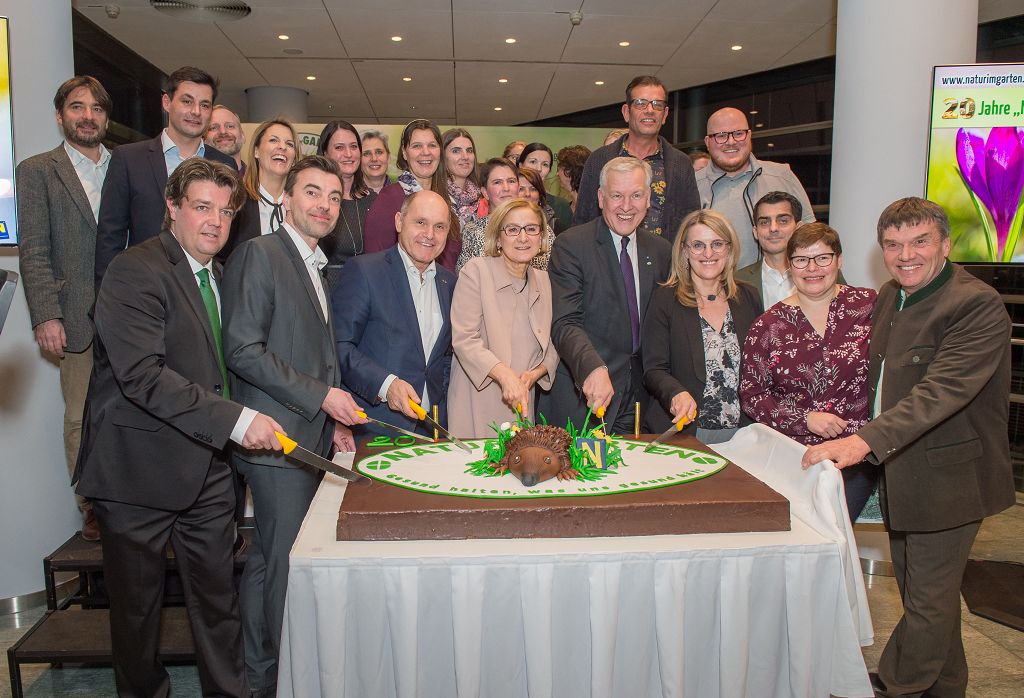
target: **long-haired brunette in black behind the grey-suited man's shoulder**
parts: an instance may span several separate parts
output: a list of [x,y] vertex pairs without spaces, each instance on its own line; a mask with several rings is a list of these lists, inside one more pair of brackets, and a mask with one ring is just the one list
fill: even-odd
[[324,275],[328,286],[334,287],[341,268],[349,259],[362,254],[362,221],[370,214],[370,207],[377,194],[364,180],[362,141],[359,132],[347,121],[330,122],[321,132],[316,155],[338,164],[341,175],[341,211],[334,231],[321,241],[319,247],[327,255]]

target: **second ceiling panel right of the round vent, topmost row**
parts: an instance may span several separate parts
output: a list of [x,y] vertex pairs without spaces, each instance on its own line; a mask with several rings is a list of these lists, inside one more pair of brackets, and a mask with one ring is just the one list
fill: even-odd
[[[382,3],[383,4],[383,3]],[[451,58],[452,13],[415,9],[330,8],[331,18],[352,58]],[[391,41],[392,36],[402,37]]]

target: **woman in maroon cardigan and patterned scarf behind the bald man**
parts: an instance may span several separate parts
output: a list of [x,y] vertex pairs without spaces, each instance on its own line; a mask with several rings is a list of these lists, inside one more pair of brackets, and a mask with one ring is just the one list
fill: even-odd
[[[402,172],[398,181],[388,184],[370,207],[364,225],[364,252],[381,252],[392,248],[398,242],[395,215],[402,202],[417,191],[428,189],[440,194],[452,205],[447,193],[447,182],[437,172],[441,162],[441,132],[437,125],[427,119],[411,121],[401,132],[398,147],[398,167]],[[462,234],[459,219],[452,214],[447,242],[437,263],[455,271],[456,260],[462,249]]]

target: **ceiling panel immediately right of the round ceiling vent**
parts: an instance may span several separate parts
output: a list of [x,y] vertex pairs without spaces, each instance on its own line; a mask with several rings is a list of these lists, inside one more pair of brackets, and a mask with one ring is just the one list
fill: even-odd
[[[318,8],[256,7],[239,21],[218,25],[238,49],[247,56],[281,56],[287,49],[300,49],[304,56],[338,58],[345,49],[334,31],[331,16]],[[278,38],[289,37],[288,41]]]

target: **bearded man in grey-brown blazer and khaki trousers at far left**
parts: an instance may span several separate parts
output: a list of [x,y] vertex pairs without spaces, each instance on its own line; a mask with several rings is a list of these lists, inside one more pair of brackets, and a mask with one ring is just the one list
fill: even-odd
[[[63,141],[25,160],[15,172],[19,262],[36,343],[60,360],[65,456],[68,472],[74,473],[92,373],[92,257],[99,194],[111,162],[102,140],[113,103],[98,80],[78,76],[57,88],[53,107]],[[98,540],[92,508],[84,497],[76,498],[82,537]]]

